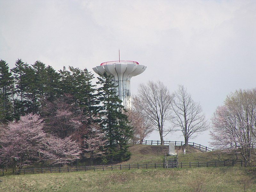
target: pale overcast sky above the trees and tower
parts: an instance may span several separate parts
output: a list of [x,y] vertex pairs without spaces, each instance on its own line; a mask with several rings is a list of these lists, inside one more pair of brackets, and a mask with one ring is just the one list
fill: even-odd
[[[170,92],[183,84],[210,122],[227,94],[255,87],[256,1],[0,0],[0,59],[10,68],[21,58],[92,71],[118,60],[118,49],[147,66],[132,95],[148,80]],[[208,132],[193,141],[209,146]]]

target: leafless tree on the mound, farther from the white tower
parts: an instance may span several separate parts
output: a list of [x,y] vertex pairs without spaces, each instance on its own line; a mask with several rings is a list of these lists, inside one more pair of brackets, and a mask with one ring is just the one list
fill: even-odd
[[184,150],[188,146],[188,140],[196,137],[195,133],[207,130],[208,123],[202,107],[192,99],[183,85],[179,85],[178,90],[174,93],[172,110],[172,124],[176,130],[182,132],[185,139]]

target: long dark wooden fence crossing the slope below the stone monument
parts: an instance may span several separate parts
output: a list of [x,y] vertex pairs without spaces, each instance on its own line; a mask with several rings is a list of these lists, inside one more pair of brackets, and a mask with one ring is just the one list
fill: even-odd
[[128,165],[94,165],[94,166],[79,166],[79,167],[50,167],[50,168],[30,168],[17,169],[15,174],[28,173],[56,173],[56,172],[78,172],[78,171],[96,171],[96,170],[130,170],[130,169],[156,169],[156,168],[170,168],[177,166],[184,167],[219,167],[219,166],[243,166],[243,161],[214,161],[214,162],[189,162],[189,163],[172,163],[172,164],[128,164]]

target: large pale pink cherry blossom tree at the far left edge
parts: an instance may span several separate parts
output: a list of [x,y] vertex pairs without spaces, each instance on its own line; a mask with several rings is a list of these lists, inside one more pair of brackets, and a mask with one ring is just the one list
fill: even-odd
[[20,121],[2,125],[3,135],[1,157],[4,164],[17,164],[22,167],[31,164],[38,158],[38,151],[44,152],[46,133],[44,123],[38,115],[28,114],[20,117]]

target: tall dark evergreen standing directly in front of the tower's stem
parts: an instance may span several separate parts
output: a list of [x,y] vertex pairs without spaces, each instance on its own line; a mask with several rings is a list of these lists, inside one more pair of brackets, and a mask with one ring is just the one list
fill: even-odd
[[98,77],[98,96],[101,101],[100,116],[101,129],[108,140],[107,154],[110,162],[113,160],[129,159],[131,153],[127,150],[127,141],[132,138],[132,127],[128,124],[127,116],[123,113],[122,100],[116,95],[116,89],[112,83],[112,77],[106,72]]

